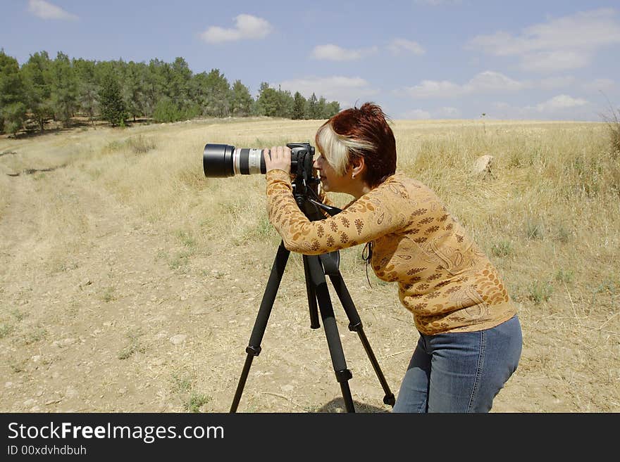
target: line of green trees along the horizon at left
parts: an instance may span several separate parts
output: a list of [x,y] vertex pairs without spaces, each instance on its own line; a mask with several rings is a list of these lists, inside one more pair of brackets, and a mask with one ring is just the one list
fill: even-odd
[[262,82],[252,97],[240,80],[228,82],[219,69],[194,74],[184,58],[173,63],[70,59],[58,52],[30,55],[19,65],[0,49],[0,133],[16,134],[33,125],[43,131],[54,120],[64,127],[73,117],[106,120],[123,126],[147,118],[175,122],[194,117],[266,115],[290,119],[326,119],[340,103],[313,93],[305,98]]

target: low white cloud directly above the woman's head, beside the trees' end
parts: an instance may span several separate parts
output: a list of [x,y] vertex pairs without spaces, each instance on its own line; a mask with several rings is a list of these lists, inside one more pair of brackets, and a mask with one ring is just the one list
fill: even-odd
[[352,107],[355,103],[378,94],[371,84],[361,77],[311,77],[308,79],[285,80],[273,85],[283,90],[299,91],[309,98],[315,94],[317,98],[325,96],[327,101],[338,101],[341,108]]

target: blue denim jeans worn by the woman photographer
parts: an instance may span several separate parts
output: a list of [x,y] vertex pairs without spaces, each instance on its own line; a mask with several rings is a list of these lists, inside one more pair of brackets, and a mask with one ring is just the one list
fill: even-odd
[[485,331],[420,334],[392,412],[490,411],[522,344],[516,315]]

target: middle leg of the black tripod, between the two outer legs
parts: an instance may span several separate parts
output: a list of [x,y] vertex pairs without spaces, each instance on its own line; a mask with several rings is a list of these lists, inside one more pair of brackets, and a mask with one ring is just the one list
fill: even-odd
[[345,401],[347,412],[355,412],[348,382],[352,378],[352,373],[347,369],[345,352],[342,350],[342,342],[340,342],[340,335],[338,334],[334,309],[330,300],[327,281],[325,281],[323,267],[321,267],[321,262],[317,255],[304,255],[304,259],[307,261],[309,274],[318,300],[318,308],[321,311],[325,337],[327,338],[336,380],[340,383],[342,399]]

